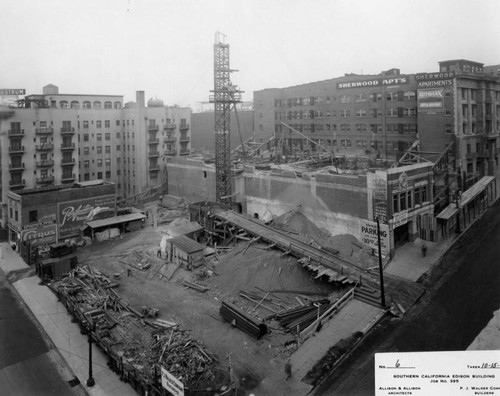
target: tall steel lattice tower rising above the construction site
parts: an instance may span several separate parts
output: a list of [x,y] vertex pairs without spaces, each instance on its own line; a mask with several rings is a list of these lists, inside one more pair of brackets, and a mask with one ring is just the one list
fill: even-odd
[[214,44],[214,94],[210,102],[215,107],[215,196],[219,203],[231,203],[231,148],[229,141],[231,105],[241,102],[241,92],[231,84],[230,75],[237,70],[229,67],[229,44],[217,32]]

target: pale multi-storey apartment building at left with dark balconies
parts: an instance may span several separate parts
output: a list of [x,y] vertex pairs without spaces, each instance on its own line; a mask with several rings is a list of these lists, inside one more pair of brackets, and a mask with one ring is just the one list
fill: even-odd
[[130,197],[166,181],[166,157],[190,153],[189,108],[119,95],[60,94],[48,85],[0,108],[1,225],[8,190],[103,179]]

